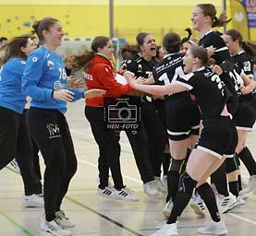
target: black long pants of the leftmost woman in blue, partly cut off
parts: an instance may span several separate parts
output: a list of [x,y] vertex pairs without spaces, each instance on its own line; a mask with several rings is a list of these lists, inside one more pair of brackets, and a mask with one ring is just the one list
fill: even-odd
[[33,168],[25,114],[0,107],[0,121],[0,170],[17,157],[25,195],[42,194],[42,184]]

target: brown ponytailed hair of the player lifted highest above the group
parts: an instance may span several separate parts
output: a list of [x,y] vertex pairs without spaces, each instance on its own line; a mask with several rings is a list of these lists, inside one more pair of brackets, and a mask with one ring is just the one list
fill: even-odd
[[227,18],[225,11],[223,11],[221,15],[217,18],[216,17],[217,11],[215,6],[213,6],[213,4],[199,4],[196,7],[201,8],[202,14],[205,17],[209,16],[212,19],[213,21],[212,28],[225,26],[226,23],[230,22],[232,19],[232,18]]

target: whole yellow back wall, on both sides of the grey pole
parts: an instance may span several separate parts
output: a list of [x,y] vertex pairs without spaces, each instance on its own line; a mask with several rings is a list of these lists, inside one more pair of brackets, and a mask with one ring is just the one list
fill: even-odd
[[[6,3],[0,0],[0,37],[11,38],[28,33],[35,19],[46,16],[60,19],[68,38],[92,38],[109,34],[108,0],[9,0],[7,3],[10,5],[1,5],[4,2]],[[22,5],[17,5],[20,2]],[[143,30],[151,32],[161,44],[164,34],[170,29],[181,33],[182,37],[186,35],[183,29],[191,27],[192,7],[201,1],[115,0],[114,2],[114,28],[117,37],[126,38],[133,43],[136,34]],[[221,2],[214,1],[218,14],[221,12]],[[227,7],[227,15],[231,17],[229,7]],[[232,28],[232,24],[229,23],[227,28]],[[250,29],[250,39],[256,39],[256,29]]]

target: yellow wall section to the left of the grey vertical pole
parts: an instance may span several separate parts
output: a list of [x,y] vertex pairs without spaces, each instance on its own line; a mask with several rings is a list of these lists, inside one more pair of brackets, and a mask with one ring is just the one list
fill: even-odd
[[58,18],[67,37],[93,37],[108,34],[105,6],[0,6],[0,36],[28,33],[35,19]]

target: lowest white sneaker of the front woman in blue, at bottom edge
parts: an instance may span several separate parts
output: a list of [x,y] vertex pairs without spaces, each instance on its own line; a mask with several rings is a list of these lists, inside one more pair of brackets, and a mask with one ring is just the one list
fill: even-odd
[[56,219],[52,221],[46,221],[44,218],[41,221],[41,230],[49,232],[55,236],[71,236],[72,232],[69,230],[63,230],[61,226],[58,225]]

